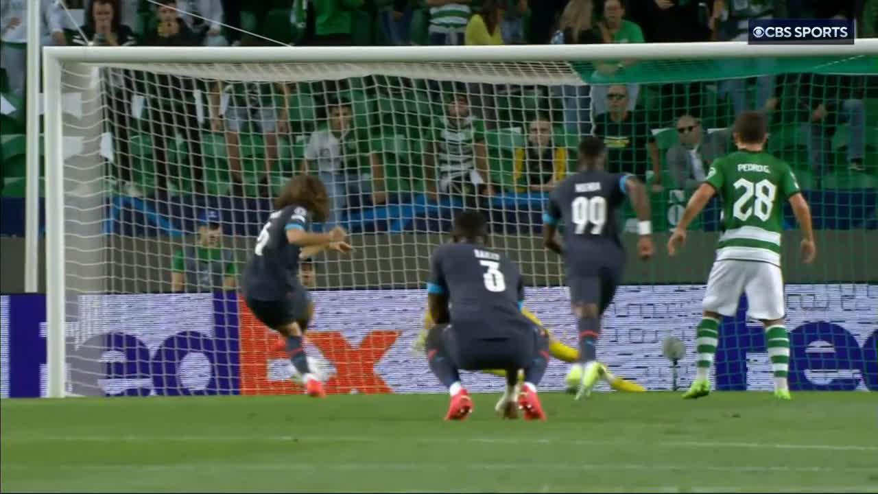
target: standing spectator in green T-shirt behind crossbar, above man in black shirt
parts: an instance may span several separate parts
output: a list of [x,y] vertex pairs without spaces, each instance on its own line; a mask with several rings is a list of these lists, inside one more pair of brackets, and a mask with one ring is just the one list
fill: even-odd
[[[643,43],[644,32],[640,26],[630,20],[625,19],[625,1],[624,0],[607,0],[604,3],[603,20],[601,24],[605,31],[609,33],[611,42],[613,43]],[[613,75],[620,71],[628,69],[634,65],[634,60],[623,60],[615,64],[607,64],[601,69],[602,74]],[[637,105],[637,94],[640,92],[640,85],[625,84],[628,88],[628,111],[633,112]],[[592,106],[594,114],[600,115],[607,113],[609,106],[607,104],[608,85],[592,86]]]

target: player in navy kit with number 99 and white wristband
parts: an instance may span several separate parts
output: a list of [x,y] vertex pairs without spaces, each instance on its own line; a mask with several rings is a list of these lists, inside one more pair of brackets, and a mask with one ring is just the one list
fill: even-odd
[[[579,360],[571,374],[579,374],[576,399],[590,394],[606,372],[597,361],[601,316],[622,281],[625,251],[616,225],[616,209],[626,195],[637,212],[640,258],[652,257],[650,205],[637,178],[603,170],[607,161],[604,143],[593,136],[579,143],[578,172],[549,195],[543,215],[543,241],[550,251],[564,255],[570,304],[579,320]],[[558,221],[565,223],[564,246],[556,236]]]

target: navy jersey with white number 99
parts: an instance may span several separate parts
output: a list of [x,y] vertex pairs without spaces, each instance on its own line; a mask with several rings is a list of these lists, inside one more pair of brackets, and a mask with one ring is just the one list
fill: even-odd
[[565,224],[564,251],[568,270],[583,259],[624,259],[619,225],[619,208],[625,199],[624,173],[579,171],[565,178],[549,194],[543,222]]

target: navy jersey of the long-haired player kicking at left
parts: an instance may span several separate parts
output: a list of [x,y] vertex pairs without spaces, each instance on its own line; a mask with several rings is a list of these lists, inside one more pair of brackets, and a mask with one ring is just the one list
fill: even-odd
[[299,245],[286,239],[286,230],[307,226],[305,207],[287,206],[270,214],[244,268],[241,291],[245,297],[273,301],[304,289],[299,284]]

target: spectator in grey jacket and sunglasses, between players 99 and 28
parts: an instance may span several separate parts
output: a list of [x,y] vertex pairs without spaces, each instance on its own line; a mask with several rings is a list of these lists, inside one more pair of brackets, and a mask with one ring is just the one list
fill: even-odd
[[729,133],[726,130],[704,135],[702,123],[692,115],[677,120],[680,142],[667,150],[667,167],[676,188],[694,191],[707,177],[710,163],[726,154]]

